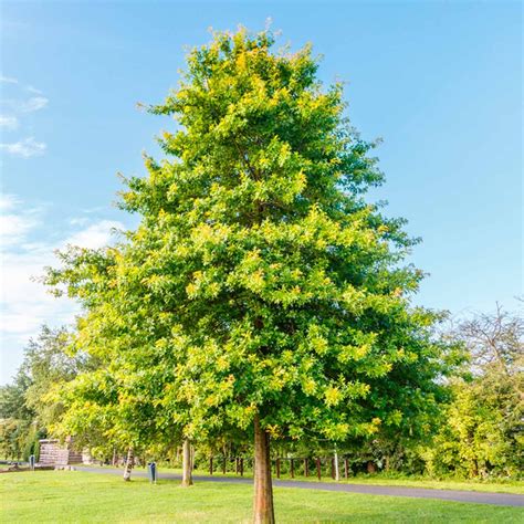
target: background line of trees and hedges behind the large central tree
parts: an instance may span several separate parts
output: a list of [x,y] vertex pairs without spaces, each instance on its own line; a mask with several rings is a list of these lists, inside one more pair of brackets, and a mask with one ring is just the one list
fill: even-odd
[[[522,478],[523,432],[523,335],[524,321],[497,306],[493,314],[478,314],[441,334],[462,347],[463,364],[446,380],[447,397],[433,413],[432,423],[417,436],[380,431],[364,439],[338,443],[350,471],[398,472],[463,479]],[[64,405],[50,391],[67,388],[80,373],[97,363],[86,355],[71,354],[71,334],[44,326],[31,340],[12,382],[0,387],[0,458],[28,460],[38,452],[38,440],[55,437],[50,428],[60,425]],[[70,413],[70,416],[80,413]],[[62,434],[64,437],[64,434]],[[108,440],[101,428],[85,422],[77,443],[94,458],[112,462],[127,452],[126,442]],[[146,460],[181,465],[181,439],[155,434],[138,443],[136,453]],[[274,457],[315,458],[333,453],[333,442],[304,439],[280,442]],[[196,465],[208,467],[209,457],[250,457],[252,446],[242,439],[217,439],[200,446]],[[216,468],[221,468],[216,462]]]

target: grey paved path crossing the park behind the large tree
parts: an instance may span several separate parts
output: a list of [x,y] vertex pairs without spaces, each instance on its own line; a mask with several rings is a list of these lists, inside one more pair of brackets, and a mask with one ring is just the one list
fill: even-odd
[[[123,474],[123,470],[116,468],[96,468],[96,467],[75,467],[78,471],[91,473]],[[144,470],[134,470],[134,476],[147,476]],[[158,474],[159,479],[181,480],[181,475],[176,473]],[[231,484],[251,484],[252,479],[243,476],[210,476],[195,475],[195,481],[203,482],[228,482]],[[347,484],[331,482],[301,482],[274,480],[273,485],[279,488],[298,488],[304,490],[322,491],[342,491],[347,493],[364,493],[367,495],[390,495],[390,496],[413,496],[416,499],[439,499],[442,501],[473,502],[478,504],[495,504],[501,506],[524,506],[524,495],[514,495],[510,493],[484,493],[480,491],[459,491],[459,490],[430,490],[426,488],[404,488],[389,485],[369,485],[369,484]]]

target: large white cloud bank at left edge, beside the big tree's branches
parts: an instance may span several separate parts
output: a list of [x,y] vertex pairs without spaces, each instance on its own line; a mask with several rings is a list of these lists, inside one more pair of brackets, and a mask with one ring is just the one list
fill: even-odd
[[10,379],[22,358],[22,348],[29,338],[35,337],[42,324],[60,326],[73,321],[80,307],[73,301],[50,295],[35,282],[46,265],[59,264],[56,249],[67,244],[83,248],[102,248],[112,243],[113,229],[124,229],[114,220],[88,220],[88,223],[69,222],[70,233],[62,238],[45,240],[39,230],[44,207],[28,207],[14,195],[0,196],[0,209],[4,212],[1,233],[1,286],[0,286],[0,382]]

